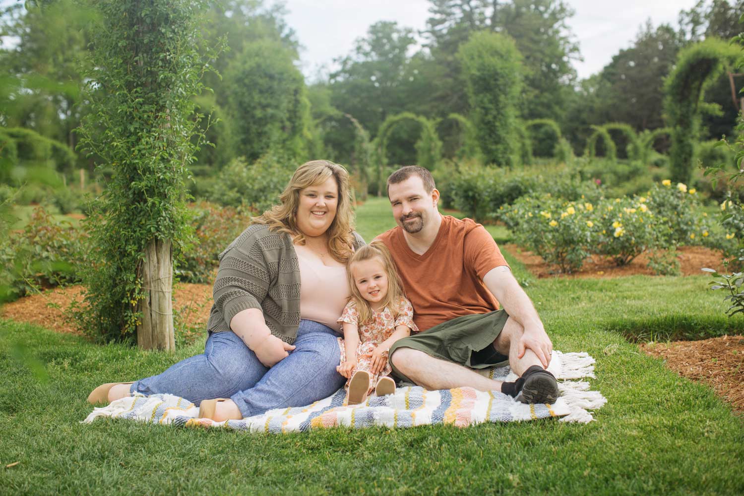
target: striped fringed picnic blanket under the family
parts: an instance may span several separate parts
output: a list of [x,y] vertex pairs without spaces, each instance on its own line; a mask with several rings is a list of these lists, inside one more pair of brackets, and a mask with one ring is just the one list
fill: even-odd
[[[214,422],[198,419],[199,408],[178,396],[154,394],[128,396],[104,408],[95,408],[83,421],[99,416],[182,427],[226,428],[234,431],[285,433],[346,426],[391,428],[450,424],[458,427],[483,422],[515,422],[560,417],[565,422],[590,422],[589,410],[600,408],[606,399],[589,390],[589,383],[576,381],[594,377],[594,359],[586,353],[554,352],[548,370],[559,379],[562,396],[553,405],[525,405],[497,391],[472,387],[429,391],[423,387],[400,387],[394,395],[371,396],[361,405],[344,406],[345,391],[337,391],[312,405],[278,408],[242,420]],[[509,367],[481,371],[491,379],[513,381]]]

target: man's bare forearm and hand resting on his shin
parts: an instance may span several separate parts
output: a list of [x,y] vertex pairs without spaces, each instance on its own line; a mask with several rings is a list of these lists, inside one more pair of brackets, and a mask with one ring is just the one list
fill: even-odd
[[530,297],[527,296],[522,286],[519,286],[510,268],[506,265],[492,268],[483,277],[483,282],[509,317],[519,322],[525,329],[519,341],[517,358],[522,358],[525,350],[529,348],[535,352],[542,366],[547,368],[551,361],[553,343],[548,338],[548,333],[545,332],[545,327],[542,326],[542,321]]

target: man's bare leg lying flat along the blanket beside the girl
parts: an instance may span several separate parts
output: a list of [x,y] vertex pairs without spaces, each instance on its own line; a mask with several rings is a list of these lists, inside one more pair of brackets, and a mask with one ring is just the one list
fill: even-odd
[[428,390],[473,387],[481,391],[501,391],[501,381],[493,381],[472,370],[426,355],[412,348],[398,348],[391,362],[404,376]]

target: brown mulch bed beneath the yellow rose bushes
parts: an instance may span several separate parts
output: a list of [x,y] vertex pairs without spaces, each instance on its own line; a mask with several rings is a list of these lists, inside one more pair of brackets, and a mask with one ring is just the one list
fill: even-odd
[[[537,277],[620,277],[632,276],[636,274],[653,275],[653,271],[646,265],[649,260],[646,254],[635,257],[628,265],[618,267],[609,257],[600,257],[592,255],[584,260],[581,269],[573,274],[560,274],[555,265],[549,265],[542,260],[539,255],[531,251],[523,250],[513,243],[501,245],[501,248],[512,254],[516,260],[525,264],[530,273]],[[723,270],[721,263],[722,255],[718,250],[705,248],[703,246],[681,246],[677,248],[677,260],[681,265],[682,275],[707,275],[701,271],[703,267],[714,268],[718,271]]]

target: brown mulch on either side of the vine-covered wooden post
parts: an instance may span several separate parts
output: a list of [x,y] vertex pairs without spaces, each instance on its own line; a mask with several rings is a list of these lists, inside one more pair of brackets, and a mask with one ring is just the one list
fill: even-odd
[[[80,335],[73,323],[65,319],[62,312],[72,300],[80,301],[83,286],[51,289],[42,294],[20,298],[6,303],[0,309],[0,317],[16,322],[28,322],[52,329]],[[185,326],[206,329],[212,303],[212,286],[208,284],[180,283],[174,294],[173,312],[181,312]],[[55,308],[55,306],[59,308]]]

